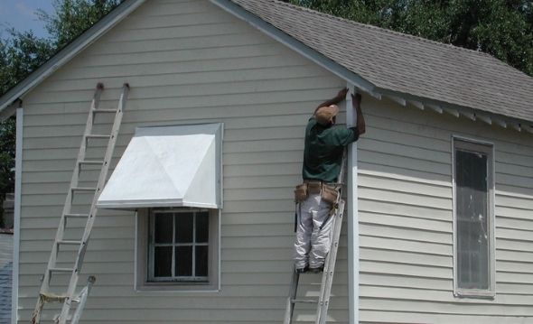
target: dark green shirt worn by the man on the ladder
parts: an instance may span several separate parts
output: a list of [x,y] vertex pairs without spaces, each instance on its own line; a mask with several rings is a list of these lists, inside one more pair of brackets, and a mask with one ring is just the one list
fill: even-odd
[[336,182],[341,171],[344,146],[358,138],[357,127],[323,126],[311,117],[305,128],[304,180]]

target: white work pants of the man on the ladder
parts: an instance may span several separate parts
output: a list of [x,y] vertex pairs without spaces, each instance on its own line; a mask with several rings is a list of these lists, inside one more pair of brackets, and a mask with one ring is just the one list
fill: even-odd
[[[331,245],[331,208],[332,205],[323,201],[320,194],[310,194],[297,206],[298,224],[294,255],[296,269],[323,266]],[[323,225],[324,221],[326,223]]]

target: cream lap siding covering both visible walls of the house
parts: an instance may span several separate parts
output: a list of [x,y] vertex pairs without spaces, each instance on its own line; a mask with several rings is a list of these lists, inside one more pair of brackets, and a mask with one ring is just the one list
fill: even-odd
[[[345,83],[205,0],[150,0],[23,98],[21,322],[33,311],[97,82],[102,107],[131,85],[112,165],[137,126],[224,123],[221,290],[135,292],[134,215],[102,211],[79,281],[97,276],[83,321],[281,322],[304,126]],[[363,108],[361,323],[533,322],[531,135],[386,99],[365,96]],[[453,296],[452,134],[496,148],[494,301]],[[346,250],[343,236],[330,322],[348,322]],[[304,276],[300,291],[315,296],[318,281]],[[298,323],[313,321],[311,306],[298,308]]]

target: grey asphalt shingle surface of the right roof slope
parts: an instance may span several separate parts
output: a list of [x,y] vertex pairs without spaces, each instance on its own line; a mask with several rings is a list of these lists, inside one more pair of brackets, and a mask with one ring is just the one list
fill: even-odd
[[481,51],[277,0],[230,0],[380,89],[533,121],[533,78]]

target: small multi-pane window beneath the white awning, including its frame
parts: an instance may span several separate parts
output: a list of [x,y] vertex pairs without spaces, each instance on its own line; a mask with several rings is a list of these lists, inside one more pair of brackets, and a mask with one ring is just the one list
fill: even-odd
[[219,282],[217,209],[154,208],[137,215],[139,291],[215,291]]

